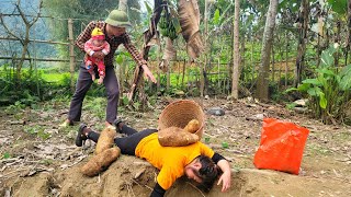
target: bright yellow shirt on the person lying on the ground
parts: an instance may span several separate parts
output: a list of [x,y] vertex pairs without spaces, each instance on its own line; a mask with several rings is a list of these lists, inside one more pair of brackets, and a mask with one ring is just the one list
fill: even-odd
[[144,138],[135,149],[135,155],[146,159],[160,170],[157,176],[158,184],[168,189],[177,178],[184,175],[184,167],[199,155],[212,158],[214,151],[202,142],[185,147],[162,147],[158,142],[158,134]]

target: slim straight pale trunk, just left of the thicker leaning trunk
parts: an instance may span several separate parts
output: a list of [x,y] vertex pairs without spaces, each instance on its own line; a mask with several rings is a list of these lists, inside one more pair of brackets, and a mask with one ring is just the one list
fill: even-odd
[[235,13],[234,13],[234,36],[233,36],[233,77],[231,77],[231,96],[235,100],[239,97],[239,12],[240,12],[240,0],[235,0]]

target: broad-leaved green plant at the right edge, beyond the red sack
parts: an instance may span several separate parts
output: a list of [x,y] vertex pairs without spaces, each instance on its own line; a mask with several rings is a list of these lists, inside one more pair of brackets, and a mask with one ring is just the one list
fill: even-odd
[[316,77],[306,79],[297,89],[309,97],[308,106],[317,118],[330,124],[344,121],[351,105],[351,65],[338,70],[333,66],[333,47],[321,54],[321,65],[316,69]]

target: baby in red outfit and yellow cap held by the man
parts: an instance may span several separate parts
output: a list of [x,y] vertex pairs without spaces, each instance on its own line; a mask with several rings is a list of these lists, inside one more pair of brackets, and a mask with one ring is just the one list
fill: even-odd
[[84,50],[87,53],[84,57],[86,68],[91,74],[92,81],[95,80],[94,67],[98,66],[99,80],[98,84],[103,82],[105,78],[105,65],[103,59],[92,57],[95,51],[102,51],[104,55],[110,53],[110,44],[105,40],[105,35],[101,28],[95,27],[91,32],[91,38],[84,44]]

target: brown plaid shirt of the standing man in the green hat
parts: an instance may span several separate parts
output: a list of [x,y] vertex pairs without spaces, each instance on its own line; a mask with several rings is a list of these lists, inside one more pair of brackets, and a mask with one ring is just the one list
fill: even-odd
[[[106,23],[103,21],[92,21],[90,22],[86,30],[80,33],[80,35],[77,37],[76,45],[84,51],[84,43],[90,39],[91,37],[91,32],[94,30],[94,27],[100,27],[105,35],[106,33]],[[111,46],[111,51],[105,56],[104,62],[105,66],[113,66],[114,62],[114,53],[118,48],[121,44],[124,45],[124,47],[129,51],[132,55],[133,59],[135,62],[140,67],[143,65],[146,65],[147,61],[143,59],[140,56],[139,51],[135,48],[135,46],[131,43],[129,35],[127,33],[124,33],[117,37],[110,38],[109,36],[105,36],[105,40],[110,44]]]

